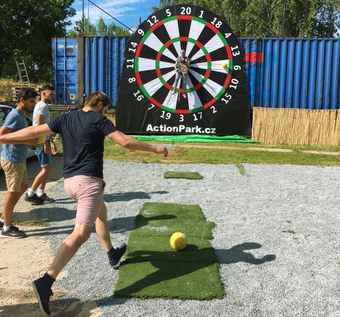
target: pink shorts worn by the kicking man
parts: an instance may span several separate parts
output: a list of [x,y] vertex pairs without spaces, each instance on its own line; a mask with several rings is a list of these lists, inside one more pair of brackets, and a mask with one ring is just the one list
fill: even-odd
[[64,179],[66,194],[78,202],[75,223],[93,227],[104,203],[105,182],[96,176],[76,175]]

